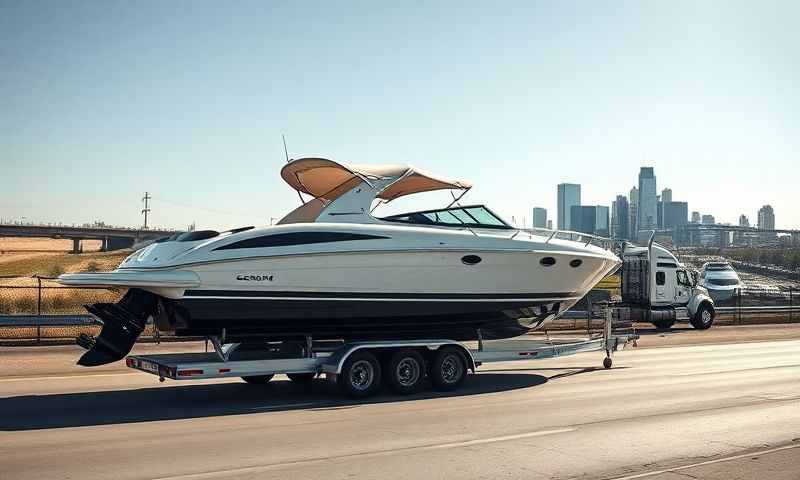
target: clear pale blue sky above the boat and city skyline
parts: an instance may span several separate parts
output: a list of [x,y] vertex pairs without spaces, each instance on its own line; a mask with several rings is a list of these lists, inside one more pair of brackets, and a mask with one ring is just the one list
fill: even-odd
[[[520,226],[556,185],[800,228],[795,1],[0,0],[0,219],[223,229],[292,158],[471,180]],[[437,208],[425,194],[385,213]]]

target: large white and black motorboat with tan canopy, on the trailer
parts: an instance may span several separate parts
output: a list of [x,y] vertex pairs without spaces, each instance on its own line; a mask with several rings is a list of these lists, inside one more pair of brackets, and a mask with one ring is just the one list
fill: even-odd
[[[114,271],[61,275],[127,289],[115,304],[87,305],[103,328],[78,338],[88,349],[79,364],[124,358],[148,322],[222,343],[510,338],[557,318],[621,263],[591,236],[525,231],[462,205],[471,183],[413,166],[303,158],[281,176],[310,199],[276,225],[184,232]],[[375,213],[434,190],[453,202]]]

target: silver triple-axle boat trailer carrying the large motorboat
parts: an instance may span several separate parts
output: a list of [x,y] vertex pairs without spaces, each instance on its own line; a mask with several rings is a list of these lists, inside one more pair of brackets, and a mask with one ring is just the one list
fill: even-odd
[[314,341],[253,344],[224,343],[224,334],[211,337],[213,352],[130,355],[126,365],[159,377],[160,381],[239,377],[247,383],[267,383],[276,374],[295,382],[311,381],[325,375],[336,381],[351,397],[376,393],[381,381],[396,393],[421,390],[424,379],[438,390],[454,390],[482,364],[536,360],[604,351],[603,367],[611,368],[613,354],[639,338],[622,309],[599,305],[603,328],[587,329],[587,337],[553,339],[524,335],[514,339],[476,342],[448,339],[383,340],[366,342]]

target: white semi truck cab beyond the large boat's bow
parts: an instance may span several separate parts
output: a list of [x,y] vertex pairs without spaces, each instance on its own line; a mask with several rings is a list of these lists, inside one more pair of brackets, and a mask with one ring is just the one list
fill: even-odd
[[623,245],[622,301],[632,315],[658,328],[670,328],[688,320],[705,330],[714,323],[714,301],[697,284],[696,271],[687,269],[667,248],[653,243],[646,247]]

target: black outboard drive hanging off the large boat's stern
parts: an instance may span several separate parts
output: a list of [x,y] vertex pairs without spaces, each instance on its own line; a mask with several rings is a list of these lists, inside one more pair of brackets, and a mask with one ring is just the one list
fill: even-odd
[[98,337],[81,333],[75,339],[88,350],[78,360],[78,365],[94,367],[125,358],[144,331],[147,319],[156,314],[160,302],[156,295],[132,288],[117,303],[84,306],[103,325]]

